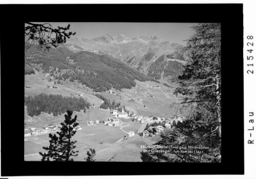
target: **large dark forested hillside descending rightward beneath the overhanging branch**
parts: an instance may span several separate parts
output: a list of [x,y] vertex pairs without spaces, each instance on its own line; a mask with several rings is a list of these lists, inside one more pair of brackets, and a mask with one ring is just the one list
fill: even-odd
[[40,67],[49,80],[69,80],[92,88],[95,92],[106,91],[111,88],[121,90],[131,89],[138,81],[156,81],[144,75],[119,59],[105,54],[87,51],[73,53],[67,47],[51,48],[48,51],[38,51],[32,47],[26,52],[26,63]]

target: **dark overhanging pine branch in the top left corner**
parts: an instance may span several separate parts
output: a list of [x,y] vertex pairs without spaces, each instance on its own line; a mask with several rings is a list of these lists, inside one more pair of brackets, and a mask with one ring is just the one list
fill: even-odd
[[28,49],[35,44],[39,49],[49,50],[52,46],[57,47],[59,44],[64,44],[67,38],[76,34],[76,32],[66,32],[69,28],[70,24],[67,27],[53,28],[49,23],[27,22],[25,23],[25,48]]

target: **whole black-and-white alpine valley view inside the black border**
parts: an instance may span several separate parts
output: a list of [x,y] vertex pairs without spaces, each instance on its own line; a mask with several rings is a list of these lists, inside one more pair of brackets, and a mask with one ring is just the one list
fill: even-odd
[[25,23],[25,161],[221,163],[220,23]]

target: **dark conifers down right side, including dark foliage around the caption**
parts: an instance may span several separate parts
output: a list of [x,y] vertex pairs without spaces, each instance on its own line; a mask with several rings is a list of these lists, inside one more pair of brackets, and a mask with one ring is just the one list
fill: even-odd
[[181,101],[171,105],[181,113],[186,111],[187,120],[162,133],[156,143],[183,147],[185,152],[144,152],[143,162],[221,162],[221,26],[204,23],[193,29],[195,33],[185,48],[190,61],[175,89],[175,94],[181,94]]

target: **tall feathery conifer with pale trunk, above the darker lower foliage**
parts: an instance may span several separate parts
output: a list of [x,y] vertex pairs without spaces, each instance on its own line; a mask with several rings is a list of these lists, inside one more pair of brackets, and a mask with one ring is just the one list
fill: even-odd
[[179,105],[190,109],[189,118],[199,112],[205,123],[218,121],[215,129],[221,135],[221,25],[203,23],[192,28],[195,33],[185,47],[191,60],[179,76],[175,94],[183,95]]

